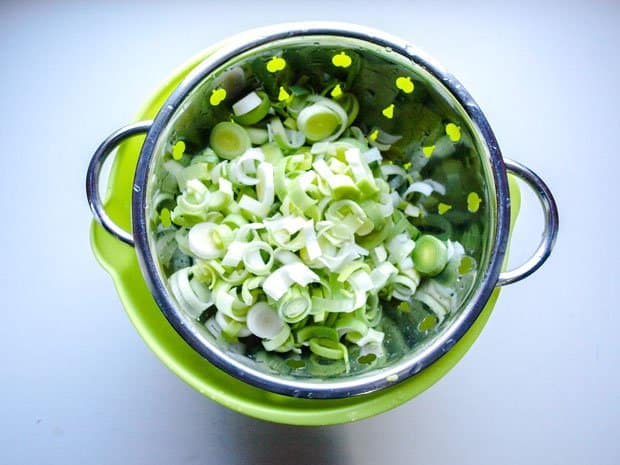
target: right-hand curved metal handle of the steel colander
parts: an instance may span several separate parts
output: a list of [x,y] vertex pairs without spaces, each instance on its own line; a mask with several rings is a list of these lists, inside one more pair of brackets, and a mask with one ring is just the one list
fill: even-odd
[[507,158],[504,158],[504,163],[506,165],[506,170],[524,181],[538,197],[545,216],[545,230],[543,231],[542,239],[538,245],[538,248],[530,259],[514,270],[500,273],[497,280],[498,286],[504,286],[506,284],[521,281],[523,278],[527,278],[534,271],[540,268],[540,266],[545,262],[545,260],[547,260],[547,258],[549,258],[549,255],[551,254],[551,250],[553,249],[555,240],[558,236],[559,227],[558,207],[551,191],[544,181],[540,179],[536,173],[526,166],[523,166],[521,163]]

